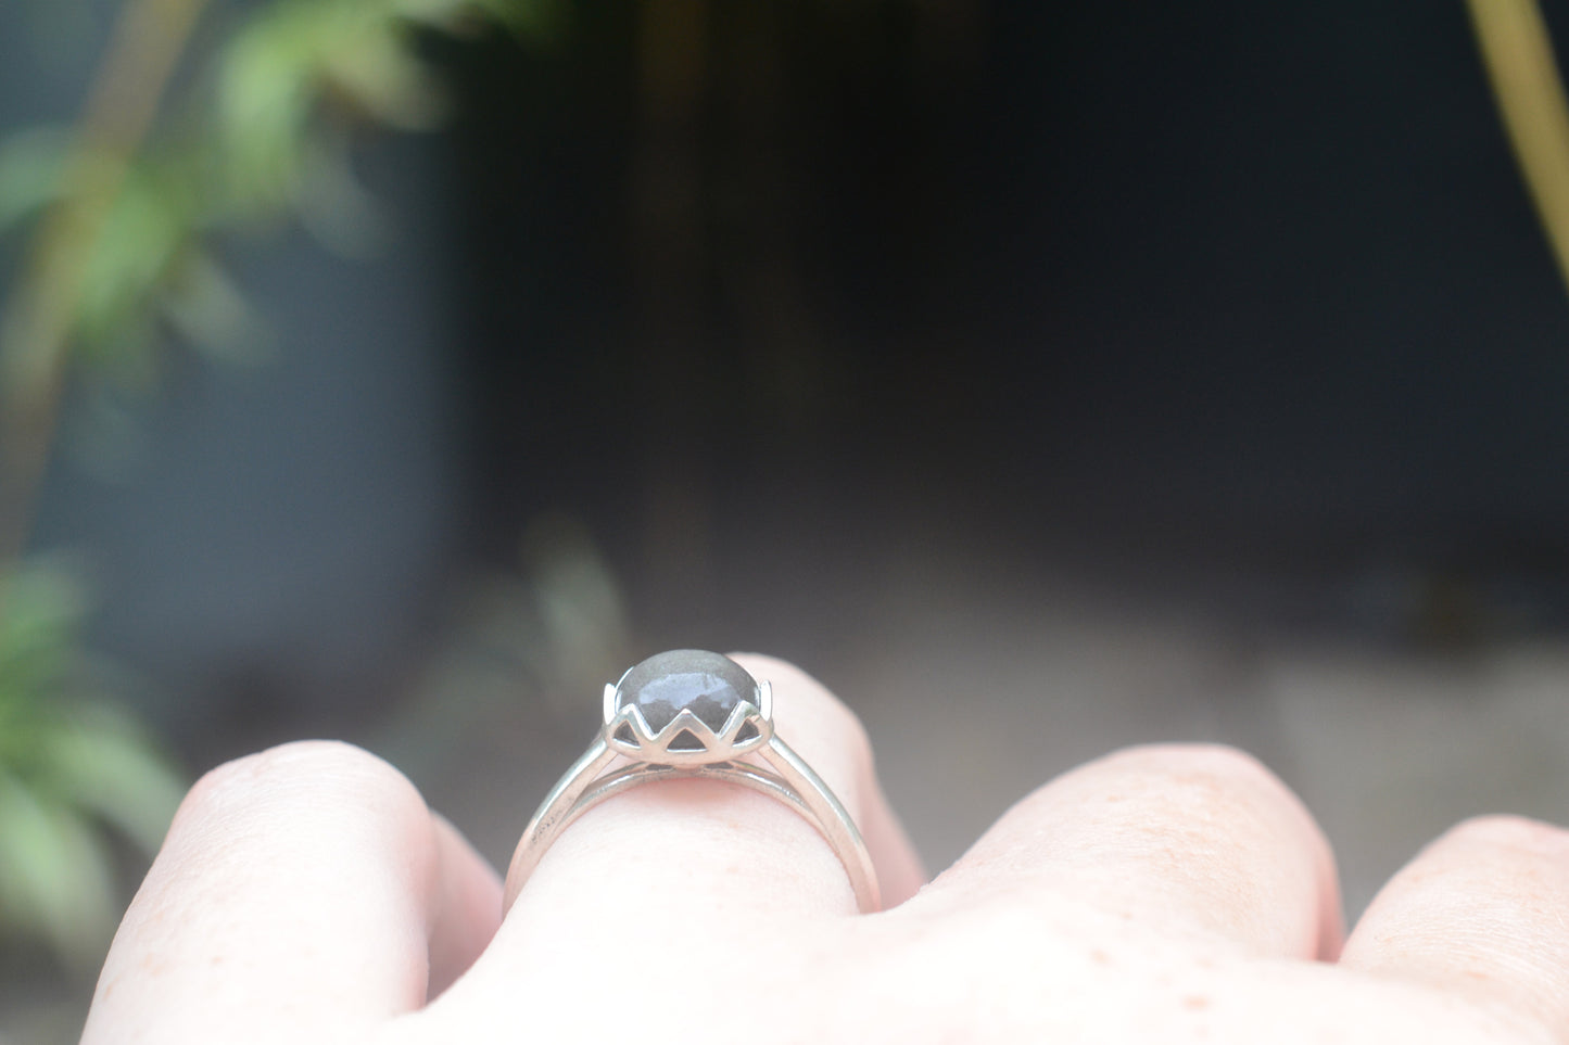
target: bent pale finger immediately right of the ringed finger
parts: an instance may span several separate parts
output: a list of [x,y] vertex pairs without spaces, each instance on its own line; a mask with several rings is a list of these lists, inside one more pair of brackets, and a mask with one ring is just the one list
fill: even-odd
[[1059,777],[910,907],[988,896],[1252,954],[1332,956],[1340,941],[1323,833],[1268,769],[1225,747],[1136,747]]

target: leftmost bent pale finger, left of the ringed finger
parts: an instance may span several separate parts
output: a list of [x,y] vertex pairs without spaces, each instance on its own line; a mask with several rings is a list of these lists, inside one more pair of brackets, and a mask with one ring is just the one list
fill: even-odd
[[121,923],[83,1042],[337,1040],[424,1004],[501,883],[413,785],[345,744],[207,774]]

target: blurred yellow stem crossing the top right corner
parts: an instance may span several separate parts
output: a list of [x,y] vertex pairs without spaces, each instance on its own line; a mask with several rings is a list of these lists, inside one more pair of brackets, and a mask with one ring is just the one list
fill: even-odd
[[1569,105],[1536,0],[1469,0],[1483,61],[1558,273],[1569,286]]

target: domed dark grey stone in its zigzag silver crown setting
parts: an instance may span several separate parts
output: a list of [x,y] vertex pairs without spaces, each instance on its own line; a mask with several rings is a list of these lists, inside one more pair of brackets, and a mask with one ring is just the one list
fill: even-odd
[[606,701],[604,736],[629,758],[701,764],[766,742],[763,687],[719,653],[670,650],[634,665]]

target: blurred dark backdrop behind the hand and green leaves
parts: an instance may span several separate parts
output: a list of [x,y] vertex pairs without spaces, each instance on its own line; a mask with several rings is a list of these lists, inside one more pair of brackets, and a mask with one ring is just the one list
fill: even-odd
[[[0,11],[0,129],[80,104],[67,6]],[[1473,807],[1563,819],[1569,300],[1459,2],[551,25],[422,36],[444,129],[355,149],[384,248],[231,235],[273,351],[55,460],[35,544],[191,770],[348,736],[504,861],[599,684],[697,645],[857,706],[934,866],[1156,737],[1271,761],[1352,908]]]

